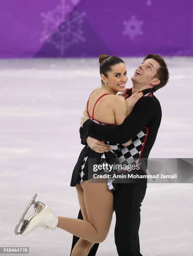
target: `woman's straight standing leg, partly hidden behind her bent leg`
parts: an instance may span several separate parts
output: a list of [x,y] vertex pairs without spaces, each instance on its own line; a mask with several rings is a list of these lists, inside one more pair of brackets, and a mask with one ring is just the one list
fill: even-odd
[[[89,222],[89,218],[86,213],[86,206],[84,203],[84,191],[80,184],[76,184],[76,191],[78,194],[79,205],[81,207],[83,219],[86,222]],[[74,248],[71,252],[71,256],[80,256],[80,255],[87,256],[93,245],[94,245],[94,243],[91,243],[85,239],[79,238],[79,240],[76,242],[76,245],[74,246]]]

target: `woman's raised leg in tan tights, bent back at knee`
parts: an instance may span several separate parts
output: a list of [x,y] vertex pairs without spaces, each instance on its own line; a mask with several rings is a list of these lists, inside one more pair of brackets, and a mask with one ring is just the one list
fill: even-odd
[[58,216],[58,228],[91,243],[101,243],[107,237],[112,221],[113,195],[107,183],[81,183],[89,223]]

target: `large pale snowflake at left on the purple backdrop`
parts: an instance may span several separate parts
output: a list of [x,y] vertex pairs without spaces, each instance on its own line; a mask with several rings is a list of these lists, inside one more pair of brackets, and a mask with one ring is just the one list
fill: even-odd
[[40,41],[55,46],[62,56],[69,46],[86,41],[82,30],[85,15],[85,12],[80,13],[77,10],[70,12],[69,5],[61,0],[61,5],[55,9],[41,13],[43,32]]

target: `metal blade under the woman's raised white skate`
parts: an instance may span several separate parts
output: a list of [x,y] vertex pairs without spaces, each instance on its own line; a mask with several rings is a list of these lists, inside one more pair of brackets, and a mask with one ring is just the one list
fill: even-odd
[[[28,225],[29,225],[29,223],[30,223],[30,220],[31,220],[34,216],[36,216],[36,215],[38,214],[38,212],[40,212],[40,211],[43,209],[43,207],[45,206],[45,205],[44,205],[43,203],[41,203],[41,202],[36,202],[36,201],[35,201],[36,197],[37,197],[37,194],[35,194],[35,195],[32,197],[32,199],[30,200],[28,206],[25,208],[25,211],[23,212],[23,214],[22,214],[22,216],[21,216],[21,218],[20,218],[18,224],[17,224],[16,227],[15,227],[15,230],[14,230],[15,235],[19,235],[19,234],[21,235],[21,234],[24,232],[24,230],[28,227]],[[34,210],[35,210],[35,212],[34,212],[32,215],[30,215],[27,220],[25,220],[24,217],[25,217],[26,213],[28,212],[28,210],[29,210],[29,208],[30,208],[31,205],[34,205]],[[22,225],[22,227],[21,227],[21,229],[20,229],[20,232],[18,232],[18,228],[19,228],[19,226],[20,226],[21,223],[23,223],[23,225]]]

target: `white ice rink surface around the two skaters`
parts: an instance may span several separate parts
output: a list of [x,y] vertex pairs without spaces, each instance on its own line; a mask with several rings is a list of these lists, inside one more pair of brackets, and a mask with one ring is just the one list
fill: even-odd
[[[132,87],[142,58],[124,60]],[[192,158],[193,58],[165,60],[170,81],[155,93],[163,118],[150,157]],[[35,193],[57,215],[77,217],[71,173],[83,148],[80,117],[96,87],[98,59],[0,60],[0,246],[69,256],[72,235],[64,230],[39,228],[23,238],[14,229]],[[97,256],[117,256],[114,225],[115,215]],[[193,256],[193,184],[147,184],[140,248],[143,256]]]

